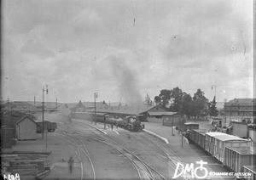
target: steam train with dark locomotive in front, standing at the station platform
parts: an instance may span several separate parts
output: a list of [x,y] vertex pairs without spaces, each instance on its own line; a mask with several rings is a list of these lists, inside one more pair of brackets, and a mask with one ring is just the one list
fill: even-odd
[[73,112],[71,117],[123,127],[131,132],[141,132],[143,130],[143,124],[137,115],[128,115],[124,118],[115,118],[109,116],[108,113]]

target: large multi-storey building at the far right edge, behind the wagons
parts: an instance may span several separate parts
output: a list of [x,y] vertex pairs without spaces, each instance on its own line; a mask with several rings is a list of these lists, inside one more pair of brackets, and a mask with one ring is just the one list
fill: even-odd
[[[224,115],[227,121],[244,121],[256,123],[256,98],[235,98],[224,104]],[[254,117],[253,117],[254,116]]]

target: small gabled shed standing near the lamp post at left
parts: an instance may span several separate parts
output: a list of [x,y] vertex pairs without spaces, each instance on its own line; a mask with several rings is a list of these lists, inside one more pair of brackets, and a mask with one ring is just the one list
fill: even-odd
[[25,116],[16,122],[15,132],[18,140],[36,139],[37,123],[28,116]]

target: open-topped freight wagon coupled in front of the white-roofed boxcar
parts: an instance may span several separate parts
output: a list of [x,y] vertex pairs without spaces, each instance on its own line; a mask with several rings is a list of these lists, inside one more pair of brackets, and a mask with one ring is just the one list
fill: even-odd
[[233,172],[243,172],[243,166],[253,165],[253,147],[228,147],[225,149],[224,166]]

